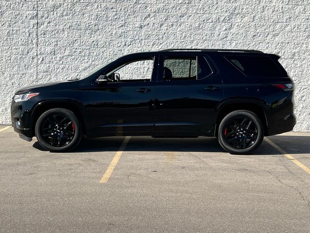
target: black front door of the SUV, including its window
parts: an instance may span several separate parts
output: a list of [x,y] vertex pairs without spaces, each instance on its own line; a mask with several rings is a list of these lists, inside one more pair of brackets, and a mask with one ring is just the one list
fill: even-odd
[[[152,135],[155,57],[126,61],[89,91],[90,136]],[[154,72],[153,72],[154,71]]]

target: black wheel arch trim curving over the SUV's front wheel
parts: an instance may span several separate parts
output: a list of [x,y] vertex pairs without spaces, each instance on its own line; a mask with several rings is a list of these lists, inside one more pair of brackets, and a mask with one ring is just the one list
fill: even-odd
[[37,103],[33,108],[30,126],[32,136],[35,136],[35,124],[39,116],[52,108],[64,108],[72,111],[78,117],[82,124],[82,132],[86,133],[86,124],[88,124],[88,122],[86,121],[87,115],[86,109],[81,103],[76,100],[45,100]]

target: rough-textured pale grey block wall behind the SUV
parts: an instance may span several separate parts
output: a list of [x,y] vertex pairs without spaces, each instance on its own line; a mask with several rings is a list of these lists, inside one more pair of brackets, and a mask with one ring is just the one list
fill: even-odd
[[281,55],[296,83],[294,130],[310,131],[310,0],[0,0],[0,124],[22,86],[166,48]]

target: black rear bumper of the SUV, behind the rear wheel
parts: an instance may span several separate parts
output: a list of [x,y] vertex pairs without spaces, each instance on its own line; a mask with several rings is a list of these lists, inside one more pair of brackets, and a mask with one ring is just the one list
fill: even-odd
[[275,135],[292,131],[296,124],[296,116],[291,113],[276,121],[268,121],[268,135]]

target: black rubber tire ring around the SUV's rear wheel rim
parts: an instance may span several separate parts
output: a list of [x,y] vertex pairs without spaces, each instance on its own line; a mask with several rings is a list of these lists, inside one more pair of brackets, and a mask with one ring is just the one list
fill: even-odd
[[[256,141],[254,142],[253,145],[251,145],[249,148],[246,148],[246,149],[234,148],[226,141],[225,135],[224,135],[224,127],[226,123],[232,120],[233,118],[240,117],[240,116],[241,117],[246,116],[249,119],[253,120],[253,122],[257,126],[257,131],[258,131]],[[228,114],[222,119],[218,127],[218,142],[224,150],[228,151],[231,154],[247,154],[253,150],[256,150],[263,142],[263,135],[264,135],[264,132],[263,132],[262,121],[255,113],[250,112],[248,110],[237,110],[237,111],[231,112],[230,114]]]

